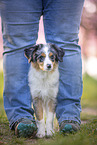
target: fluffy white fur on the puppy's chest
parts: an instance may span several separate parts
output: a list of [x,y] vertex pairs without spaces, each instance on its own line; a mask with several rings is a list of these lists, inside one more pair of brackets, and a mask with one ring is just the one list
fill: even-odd
[[29,87],[32,98],[42,97],[44,101],[55,98],[58,93],[59,72],[58,67],[53,72],[37,71],[30,66],[28,74]]

